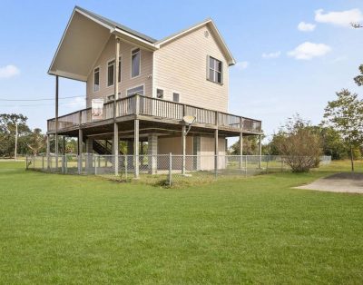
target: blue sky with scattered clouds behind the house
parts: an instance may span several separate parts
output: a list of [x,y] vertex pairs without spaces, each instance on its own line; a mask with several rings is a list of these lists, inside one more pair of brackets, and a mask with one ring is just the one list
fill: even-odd
[[[46,72],[74,5],[156,39],[211,16],[239,63],[231,67],[230,112],[262,120],[268,135],[294,113],[319,123],[342,88],[363,92],[352,81],[363,64],[363,29],[345,25],[363,23],[362,0],[1,1],[1,99],[54,98]],[[61,79],[60,96],[84,97],[85,86]],[[62,100],[60,114],[83,102]],[[54,101],[0,101],[0,113],[24,113],[45,131]]]

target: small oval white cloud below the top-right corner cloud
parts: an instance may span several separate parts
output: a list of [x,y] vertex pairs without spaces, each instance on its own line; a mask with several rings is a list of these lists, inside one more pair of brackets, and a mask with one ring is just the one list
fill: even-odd
[[288,53],[289,56],[295,59],[309,60],[313,57],[323,56],[331,51],[331,47],[327,44],[314,44],[305,42],[299,44],[294,50]]

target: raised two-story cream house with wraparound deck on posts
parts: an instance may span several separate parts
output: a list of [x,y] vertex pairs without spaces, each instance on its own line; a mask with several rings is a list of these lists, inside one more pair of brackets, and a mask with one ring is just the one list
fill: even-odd
[[[105,153],[112,145],[112,153],[120,153],[122,140],[135,156],[143,142],[150,155],[224,155],[227,137],[261,134],[260,121],[228,113],[233,64],[211,19],[158,41],[76,6],[48,71],[56,78],[48,137],[78,137],[80,153],[83,143],[85,152]],[[59,76],[86,83],[86,109],[58,116]],[[103,99],[97,114],[94,99]],[[195,118],[189,133],[184,116]],[[218,158],[215,163],[222,167]],[[149,171],[157,172],[158,163],[149,164]],[[208,164],[193,168],[213,167]]]

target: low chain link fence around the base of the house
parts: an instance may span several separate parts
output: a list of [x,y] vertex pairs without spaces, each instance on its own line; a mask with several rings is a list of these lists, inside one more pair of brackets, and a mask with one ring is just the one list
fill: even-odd
[[[320,163],[331,162],[322,156]],[[137,167],[139,175],[136,175]],[[116,168],[118,170],[116,171]],[[227,176],[250,176],[268,172],[286,172],[290,168],[278,155],[49,155],[27,156],[26,169],[64,174],[101,175],[129,180],[136,176],[152,182],[208,180]]]

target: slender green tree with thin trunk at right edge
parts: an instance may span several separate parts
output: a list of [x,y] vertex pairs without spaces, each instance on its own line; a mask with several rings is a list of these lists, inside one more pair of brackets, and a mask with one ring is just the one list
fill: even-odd
[[351,170],[354,172],[354,149],[363,143],[363,101],[347,89],[337,93],[338,99],[328,103],[324,122],[333,127],[348,144]]

